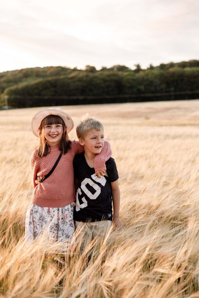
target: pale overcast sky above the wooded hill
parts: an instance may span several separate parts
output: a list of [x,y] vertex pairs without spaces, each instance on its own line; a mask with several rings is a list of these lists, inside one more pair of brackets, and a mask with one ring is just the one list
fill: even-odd
[[0,72],[199,59],[198,0],[7,0]]

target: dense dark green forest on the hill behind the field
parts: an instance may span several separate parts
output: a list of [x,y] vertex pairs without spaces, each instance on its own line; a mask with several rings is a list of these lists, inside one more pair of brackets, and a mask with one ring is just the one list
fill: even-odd
[[9,106],[18,108],[199,97],[199,60],[135,67],[49,66],[1,72],[0,105],[5,96]]

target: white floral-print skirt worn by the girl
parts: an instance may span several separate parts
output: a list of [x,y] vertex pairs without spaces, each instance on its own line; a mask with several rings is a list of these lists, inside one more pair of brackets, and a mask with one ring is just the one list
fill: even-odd
[[70,242],[74,234],[73,203],[60,208],[30,204],[25,220],[25,242],[33,243],[44,232],[52,242]]

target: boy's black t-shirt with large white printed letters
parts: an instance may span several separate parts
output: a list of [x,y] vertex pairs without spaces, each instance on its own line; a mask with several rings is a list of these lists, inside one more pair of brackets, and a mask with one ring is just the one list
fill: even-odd
[[116,181],[119,176],[113,158],[110,157],[105,164],[105,176],[98,178],[95,177],[94,168],[87,164],[84,152],[74,157],[74,177],[78,179],[75,221],[112,220],[111,182]]

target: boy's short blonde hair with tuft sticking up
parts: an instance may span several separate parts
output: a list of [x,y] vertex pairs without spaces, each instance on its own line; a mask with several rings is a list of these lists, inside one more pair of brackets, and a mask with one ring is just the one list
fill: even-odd
[[96,131],[100,131],[101,129],[104,129],[104,126],[102,122],[100,122],[99,120],[90,118],[88,113],[86,113],[85,115],[82,116],[82,121],[80,121],[76,127],[76,134],[78,139],[85,140],[86,135],[92,129]]

